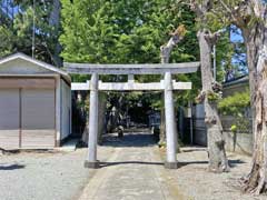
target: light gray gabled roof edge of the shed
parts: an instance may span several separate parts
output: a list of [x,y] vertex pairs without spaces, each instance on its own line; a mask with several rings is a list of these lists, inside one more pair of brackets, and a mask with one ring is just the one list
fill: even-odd
[[[70,79],[70,76],[63,71],[63,70],[60,70],[59,68],[56,68],[49,63],[46,63],[43,61],[40,61],[40,60],[37,60],[37,59],[33,59],[24,53],[14,53],[14,54],[11,54],[11,56],[8,56],[6,58],[2,58],[0,59],[0,68],[2,64],[7,63],[7,62],[10,62],[10,61],[13,61],[13,60],[23,60],[23,61],[28,61],[28,62],[31,62],[42,69],[46,69],[48,71],[51,71],[51,72],[55,72],[55,73],[58,73],[60,74],[66,81],[68,81],[69,83],[71,82],[71,79]],[[0,73],[1,74],[1,73]]]

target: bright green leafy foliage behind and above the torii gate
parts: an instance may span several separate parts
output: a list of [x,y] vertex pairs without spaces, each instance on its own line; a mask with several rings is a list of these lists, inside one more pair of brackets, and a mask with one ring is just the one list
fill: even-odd
[[[184,40],[172,50],[170,62],[199,60],[195,13],[176,0],[61,0],[61,56],[68,62],[90,63],[158,63],[160,46],[165,44],[179,24],[187,29]],[[88,76],[73,76],[85,81]],[[103,77],[101,77],[103,78]],[[175,76],[179,81],[194,80],[194,90],[176,94],[176,102],[187,101],[200,87],[200,76]],[[105,77],[118,81],[120,77]],[[160,76],[136,76],[139,82],[160,81]],[[160,98],[135,93],[159,109]],[[129,99],[128,99],[129,101]]]

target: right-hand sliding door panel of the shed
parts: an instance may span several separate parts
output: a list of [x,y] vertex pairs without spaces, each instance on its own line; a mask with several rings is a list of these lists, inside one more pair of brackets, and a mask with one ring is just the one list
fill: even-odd
[[55,136],[55,89],[22,89],[21,148],[53,148]]

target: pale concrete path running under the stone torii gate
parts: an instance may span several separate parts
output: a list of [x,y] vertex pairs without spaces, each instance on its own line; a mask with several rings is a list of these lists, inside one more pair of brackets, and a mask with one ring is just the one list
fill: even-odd
[[121,141],[108,139],[105,146],[113,146],[115,152],[97,169],[80,200],[184,199],[177,187],[169,186],[151,134],[126,133]]

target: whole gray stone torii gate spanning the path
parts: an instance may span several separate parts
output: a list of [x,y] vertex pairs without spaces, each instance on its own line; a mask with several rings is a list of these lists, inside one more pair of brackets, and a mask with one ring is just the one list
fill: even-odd
[[[69,73],[91,74],[91,80],[86,83],[72,83],[71,90],[90,90],[89,108],[89,141],[88,157],[85,162],[87,168],[99,168],[97,161],[97,136],[98,136],[98,91],[145,91],[164,90],[165,92],[165,118],[167,158],[165,167],[178,168],[177,163],[177,129],[175,121],[175,107],[172,90],[189,90],[191,82],[176,82],[171,74],[196,72],[199,62],[186,63],[157,63],[157,64],[90,64],[90,63],[65,63]],[[99,74],[128,74],[128,82],[101,82]],[[160,82],[137,83],[135,74],[165,74]]]

